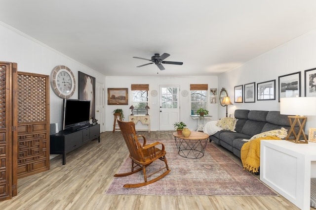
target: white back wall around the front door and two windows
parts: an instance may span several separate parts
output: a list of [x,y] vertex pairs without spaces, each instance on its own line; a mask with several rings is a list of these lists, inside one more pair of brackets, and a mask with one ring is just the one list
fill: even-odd
[[[122,109],[125,120],[128,120],[131,110],[129,107],[132,105],[132,92],[130,90],[131,84],[149,84],[149,114],[151,118],[151,130],[158,130],[159,127],[159,95],[156,97],[151,96],[152,90],[159,92],[159,85],[179,85],[180,91],[188,90],[190,92],[190,84],[208,84],[207,101],[209,115],[212,115],[214,119],[218,119],[217,116],[217,104],[210,104],[209,89],[217,88],[217,76],[207,77],[161,77],[161,76],[148,76],[148,77],[106,77],[106,88],[128,88],[128,105],[107,105],[107,90],[106,90],[106,130],[113,130],[113,111],[115,109]],[[226,111],[225,111],[226,112]],[[180,120],[188,125],[189,129],[197,128],[197,120],[193,120],[190,117],[191,105],[190,95],[183,97],[180,94]],[[148,129],[147,125],[142,125],[141,122],[137,122],[136,129],[145,130]]]

